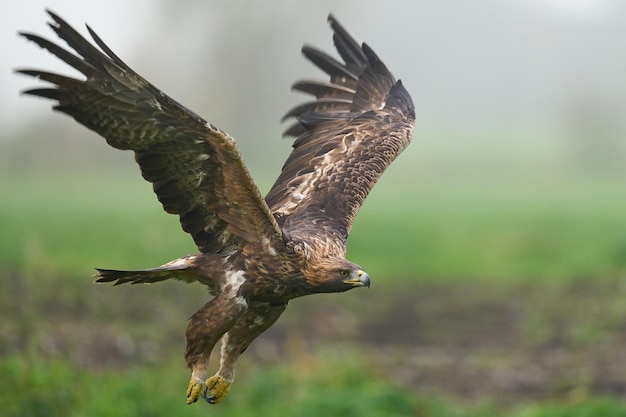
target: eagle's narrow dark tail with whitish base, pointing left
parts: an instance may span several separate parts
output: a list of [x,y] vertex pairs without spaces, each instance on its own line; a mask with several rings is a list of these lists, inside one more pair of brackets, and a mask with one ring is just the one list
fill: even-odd
[[168,262],[158,268],[141,269],[135,271],[120,271],[117,269],[96,268],[96,282],[114,282],[113,285],[120,284],[152,284],[154,282],[165,281],[167,279],[175,279],[184,282],[193,282],[197,280],[194,274],[195,265],[193,259],[195,256],[186,256]]

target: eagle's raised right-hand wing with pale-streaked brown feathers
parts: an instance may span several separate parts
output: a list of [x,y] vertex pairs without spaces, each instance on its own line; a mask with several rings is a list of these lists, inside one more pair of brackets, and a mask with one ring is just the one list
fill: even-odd
[[285,132],[297,139],[265,200],[292,245],[344,255],[363,200],[410,142],[415,110],[374,51],[359,46],[332,16],[328,21],[344,62],[309,46],[302,49],[330,81],[293,85],[316,100],[285,116],[297,119]]

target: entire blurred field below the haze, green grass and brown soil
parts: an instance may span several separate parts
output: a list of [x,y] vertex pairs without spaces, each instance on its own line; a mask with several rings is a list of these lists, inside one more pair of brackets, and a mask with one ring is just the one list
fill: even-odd
[[349,242],[372,288],[295,300],[213,408],[184,404],[204,292],[89,278],[194,251],[149,185],[0,185],[4,416],[626,415],[619,182],[381,185]]

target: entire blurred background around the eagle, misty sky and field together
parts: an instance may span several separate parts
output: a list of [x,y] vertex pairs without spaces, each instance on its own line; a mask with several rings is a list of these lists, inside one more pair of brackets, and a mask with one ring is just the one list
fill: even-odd
[[[372,288],[294,300],[217,407],[184,404],[205,291],[90,279],[195,248],[131,154],[18,97],[35,83],[11,69],[72,73],[15,36],[52,38],[44,7],[237,138],[264,192],[329,11],[413,96],[413,144],[349,240]],[[3,415],[626,415],[626,4],[58,0],[0,19]]]

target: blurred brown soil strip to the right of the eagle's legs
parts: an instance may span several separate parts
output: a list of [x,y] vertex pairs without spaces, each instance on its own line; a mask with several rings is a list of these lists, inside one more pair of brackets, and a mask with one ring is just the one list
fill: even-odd
[[626,398],[623,283],[402,285],[289,308],[266,338],[353,346],[422,393],[503,404]]

